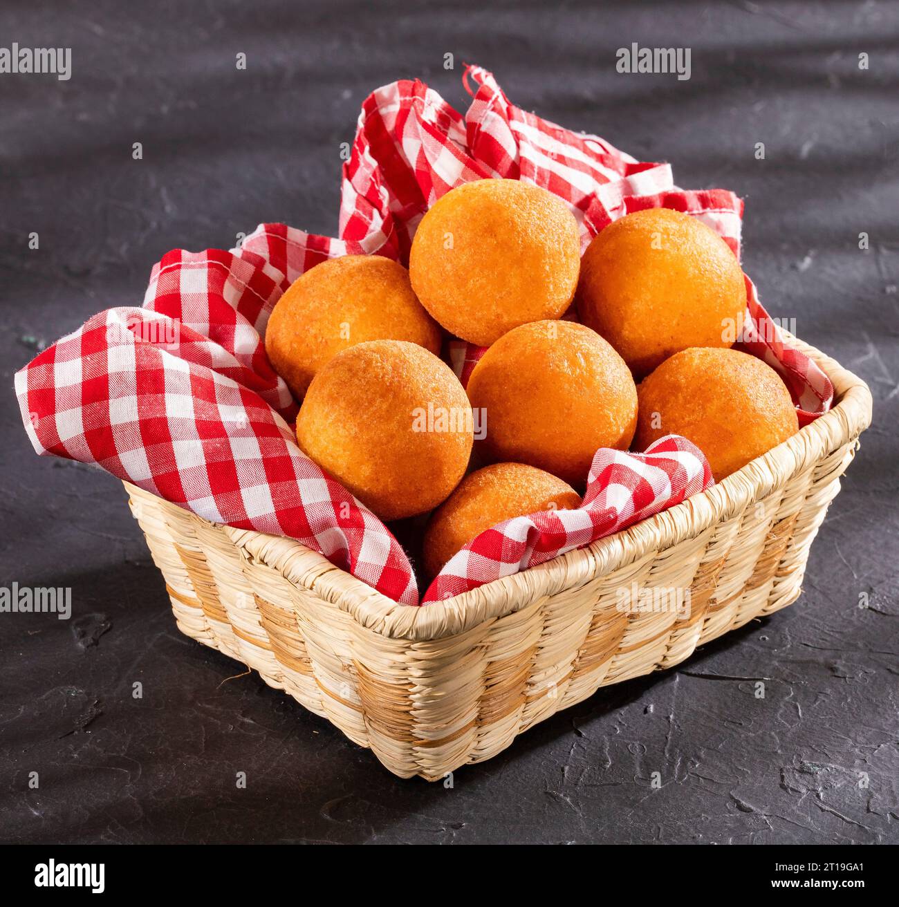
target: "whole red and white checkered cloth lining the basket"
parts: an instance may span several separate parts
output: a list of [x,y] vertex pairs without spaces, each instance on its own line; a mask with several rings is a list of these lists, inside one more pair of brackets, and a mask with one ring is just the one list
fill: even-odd
[[[393,535],[296,444],[297,407],[261,339],[290,283],[340,255],[406,261],[435,200],[491,177],[527,180],[560,196],[581,225],[584,247],[623,214],[663,206],[708,223],[739,254],[742,202],[732,192],[679,190],[667,164],[641,163],[598,136],[520,110],[483,69],[469,67],[466,87],[469,79],[477,87],[464,117],[418,81],[386,85],[366,99],[344,167],[340,239],[263,224],[230,252],[170,252],[153,268],[142,308],[94,316],[20,370],[16,395],[37,453],[96,463],[213,522],[298,539],[389,598],[417,603],[413,571]],[[784,376],[801,420],[825,412],[833,397],[826,375],[783,344],[747,283],[747,348]],[[452,341],[449,355],[467,377],[479,351]],[[705,487],[701,454],[683,439],[666,444],[673,447],[654,446],[651,463],[648,454],[600,451],[591,503],[572,512],[581,517],[522,518],[533,522],[524,541],[515,541],[521,527],[510,521],[506,547],[497,544],[498,530],[485,533],[468,546],[464,571],[453,566],[457,555],[425,600],[506,575],[510,563],[522,569],[547,560]]]

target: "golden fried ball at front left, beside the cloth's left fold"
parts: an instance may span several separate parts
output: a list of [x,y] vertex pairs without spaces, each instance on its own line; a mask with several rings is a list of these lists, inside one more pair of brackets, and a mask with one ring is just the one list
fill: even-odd
[[401,340],[350,346],[318,370],[300,448],[382,520],[424,513],[465,473],[472,411],[449,366]]

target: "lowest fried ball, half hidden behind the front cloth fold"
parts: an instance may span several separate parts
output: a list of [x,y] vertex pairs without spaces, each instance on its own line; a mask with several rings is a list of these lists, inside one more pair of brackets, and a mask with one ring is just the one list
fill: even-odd
[[466,475],[432,514],[422,555],[433,579],[456,551],[498,522],[545,510],[573,510],[581,497],[562,479],[524,463],[493,463]]

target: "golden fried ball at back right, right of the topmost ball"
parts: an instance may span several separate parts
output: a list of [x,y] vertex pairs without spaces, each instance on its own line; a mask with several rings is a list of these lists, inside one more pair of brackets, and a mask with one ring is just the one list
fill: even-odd
[[592,239],[577,307],[639,380],[689,346],[731,346],[743,324],[746,285],[714,230],[688,214],[650,208]]

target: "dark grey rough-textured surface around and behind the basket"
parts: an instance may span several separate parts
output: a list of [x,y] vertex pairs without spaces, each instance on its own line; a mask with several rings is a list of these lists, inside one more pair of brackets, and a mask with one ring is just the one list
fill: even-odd
[[[73,48],[67,83],[0,75],[0,584],[73,590],[70,621],[0,614],[0,839],[899,841],[896,5],[287,6],[0,13],[4,46]],[[691,47],[692,78],[616,73],[632,41]],[[11,385],[35,340],[139,303],[168,249],[228,248],[260,220],[333,233],[339,144],[366,93],[417,75],[460,105],[463,60],[527,109],[671,161],[679,185],[745,197],[763,301],[865,378],[875,424],[796,605],[602,689],[448,790],[388,775],[182,637],[121,485],[34,457]]]

